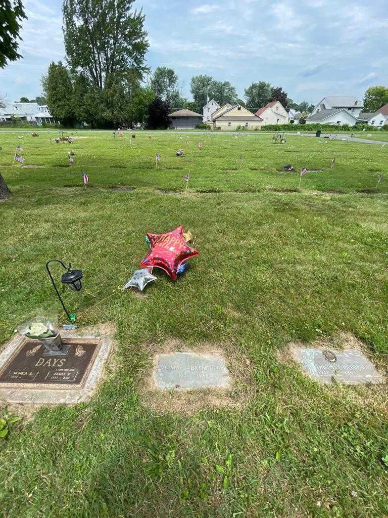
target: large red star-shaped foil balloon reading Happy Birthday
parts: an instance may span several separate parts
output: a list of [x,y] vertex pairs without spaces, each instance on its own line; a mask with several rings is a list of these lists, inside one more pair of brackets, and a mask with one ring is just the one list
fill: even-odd
[[186,243],[183,237],[183,226],[167,234],[147,234],[147,237],[150,240],[150,251],[140,266],[161,268],[174,281],[181,264],[199,255],[198,250],[189,247]]

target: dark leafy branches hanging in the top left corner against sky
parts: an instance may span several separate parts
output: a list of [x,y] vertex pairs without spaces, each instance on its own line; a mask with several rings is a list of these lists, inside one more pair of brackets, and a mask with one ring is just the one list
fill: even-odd
[[21,0],[2,0],[0,3],[0,68],[7,61],[17,61],[22,56],[18,53],[21,25],[27,17]]

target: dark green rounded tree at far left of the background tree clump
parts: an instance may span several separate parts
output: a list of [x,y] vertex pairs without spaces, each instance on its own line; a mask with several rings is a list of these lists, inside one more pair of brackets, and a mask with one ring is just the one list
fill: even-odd
[[42,78],[42,86],[53,118],[71,126],[74,123],[73,85],[69,71],[61,61],[50,63],[47,75]]

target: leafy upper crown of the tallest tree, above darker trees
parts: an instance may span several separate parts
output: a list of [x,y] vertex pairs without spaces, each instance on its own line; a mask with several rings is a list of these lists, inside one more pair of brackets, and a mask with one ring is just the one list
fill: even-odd
[[[67,62],[92,84],[105,88],[111,76],[128,70],[139,79],[148,71],[144,15],[135,0],[64,0],[63,31]],[[92,5],[91,5],[92,4]],[[112,82],[110,82],[112,84]]]

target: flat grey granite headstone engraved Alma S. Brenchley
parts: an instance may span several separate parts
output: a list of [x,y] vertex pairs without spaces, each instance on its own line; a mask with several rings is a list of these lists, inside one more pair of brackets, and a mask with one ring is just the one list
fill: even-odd
[[231,380],[220,354],[169,353],[155,358],[154,381],[158,389],[225,389]]

